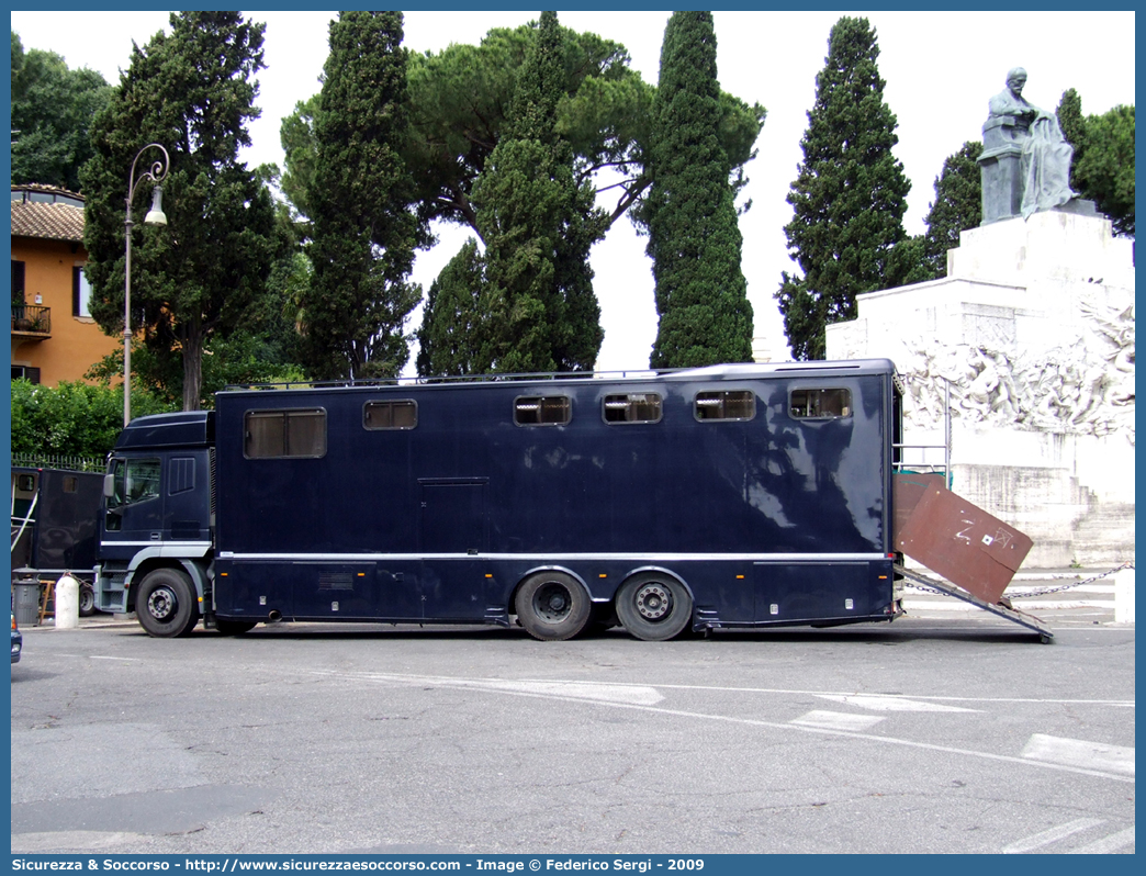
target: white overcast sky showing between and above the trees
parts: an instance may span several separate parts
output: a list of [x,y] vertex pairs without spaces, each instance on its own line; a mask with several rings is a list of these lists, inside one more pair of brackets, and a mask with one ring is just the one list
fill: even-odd
[[[415,52],[440,52],[453,42],[477,44],[490,28],[517,26],[537,14],[407,11],[405,45]],[[333,13],[249,15],[267,24],[267,69],[258,77],[262,117],[251,126],[253,146],[243,157],[252,167],[264,162],[282,167],[278,126],[297,101],[320,89]],[[653,84],[668,15],[558,13],[567,28],[625,45],[633,67]],[[788,352],[772,294],[780,272],[795,267],[787,257],[783,230],[792,217],[785,196],[802,159],[800,138],[815,100],[815,77],[827,54],[827,36],[841,15],[864,16],[876,28],[879,71],[887,83],[885,100],[900,123],[894,151],[912,182],[904,219],[909,234],[924,230],[943,159],[965,141],[980,139],[987,101],[1003,89],[1012,67],[1027,69],[1023,96],[1044,109],[1053,110],[1067,88],[1077,89],[1088,115],[1135,103],[1133,11],[715,13],[721,87],[768,110],[756,142],[759,157],[748,165],[751,182],[744,193],[753,206],[740,218],[740,230],[756,335],[776,360],[787,359]],[[146,44],[167,28],[167,18],[168,13],[150,11],[13,11],[11,29],[25,49],[57,52],[70,68],[89,67],[115,85],[119,69],[129,62],[132,40]],[[449,226],[438,232],[441,242],[421,253],[415,266],[414,279],[424,289],[468,236],[468,229]],[[622,219],[591,258],[605,328],[598,368],[647,367],[657,313],[644,241]],[[417,312],[414,323],[419,320]]]

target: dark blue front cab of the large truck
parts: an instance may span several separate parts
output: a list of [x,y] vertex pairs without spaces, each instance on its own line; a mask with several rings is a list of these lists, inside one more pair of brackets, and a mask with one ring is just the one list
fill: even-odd
[[[209,613],[213,444],[214,413],[204,410],[139,417],[120,432],[108,460],[100,509],[99,609],[143,615],[148,607],[136,596],[155,578],[180,585],[150,607],[159,623],[173,600],[183,603],[180,627],[189,620],[194,627]],[[141,621],[148,626],[148,618]],[[182,632],[188,631],[172,634]]]

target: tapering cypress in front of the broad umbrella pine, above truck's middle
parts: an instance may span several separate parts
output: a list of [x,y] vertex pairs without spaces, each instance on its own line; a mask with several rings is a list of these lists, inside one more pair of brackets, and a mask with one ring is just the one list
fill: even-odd
[[607,218],[592,208],[591,185],[578,183],[572,149],[556,130],[564,84],[564,36],[557,14],[544,11],[473,188],[489,326],[477,371],[584,370],[601,350],[588,257]]

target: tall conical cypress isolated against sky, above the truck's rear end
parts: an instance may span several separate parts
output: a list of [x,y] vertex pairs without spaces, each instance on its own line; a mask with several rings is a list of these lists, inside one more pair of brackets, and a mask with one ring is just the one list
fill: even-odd
[[892,155],[897,123],[878,56],[868,19],[843,17],[816,76],[803,162],[787,196],[795,216],[784,228],[803,279],[785,273],[776,292],[796,359],[822,358],[824,328],[855,319],[857,295],[898,286],[896,272],[911,268],[908,258],[890,259],[904,240],[911,183]]

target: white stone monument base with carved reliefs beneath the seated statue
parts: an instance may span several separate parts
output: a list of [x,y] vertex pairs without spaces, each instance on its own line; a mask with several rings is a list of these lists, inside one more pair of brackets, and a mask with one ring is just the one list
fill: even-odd
[[857,305],[827,358],[896,363],[909,445],[943,444],[950,386],[952,490],[1034,539],[1027,568],[1133,560],[1133,243],[1109,220],[966,230],[945,279]]

